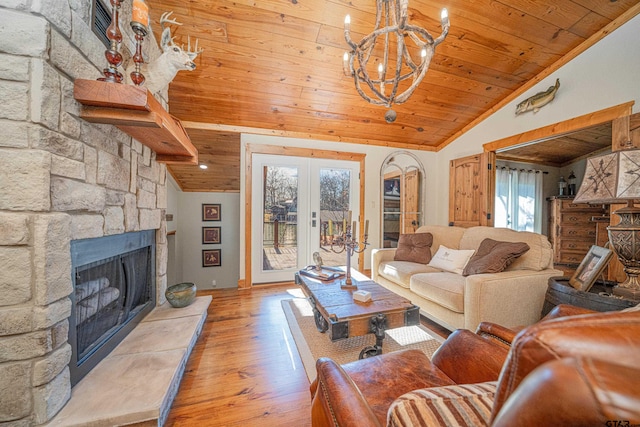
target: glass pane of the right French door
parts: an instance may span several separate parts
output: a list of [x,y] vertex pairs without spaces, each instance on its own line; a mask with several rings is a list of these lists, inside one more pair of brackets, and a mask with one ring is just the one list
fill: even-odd
[[346,264],[346,254],[335,253],[340,251],[340,248],[334,246],[332,250],[331,247],[337,242],[347,225],[347,216],[351,209],[349,207],[350,184],[349,169],[320,169],[320,227],[317,230],[320,231],[320,256],[324,265]]

